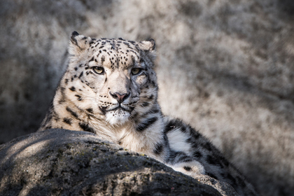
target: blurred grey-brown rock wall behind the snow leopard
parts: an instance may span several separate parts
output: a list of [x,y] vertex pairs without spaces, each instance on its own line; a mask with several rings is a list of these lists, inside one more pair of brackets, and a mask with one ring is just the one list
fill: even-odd
[[262,195],[294,195],[294,1],[1,0],[0,142],[35,132],[71,31],[154,38],[160,104]]

